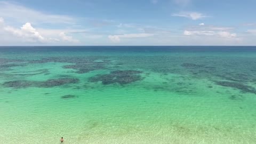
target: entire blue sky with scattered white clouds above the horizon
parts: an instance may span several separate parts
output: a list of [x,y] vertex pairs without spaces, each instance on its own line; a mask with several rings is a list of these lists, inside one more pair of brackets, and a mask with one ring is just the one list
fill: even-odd
[[256,45],[255,0],[0,0],[0,45]]

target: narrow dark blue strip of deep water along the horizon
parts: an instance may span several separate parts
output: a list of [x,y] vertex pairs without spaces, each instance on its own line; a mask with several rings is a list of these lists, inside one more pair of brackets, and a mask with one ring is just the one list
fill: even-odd
[[256,52],[256,46],[0,46],[0,52]]

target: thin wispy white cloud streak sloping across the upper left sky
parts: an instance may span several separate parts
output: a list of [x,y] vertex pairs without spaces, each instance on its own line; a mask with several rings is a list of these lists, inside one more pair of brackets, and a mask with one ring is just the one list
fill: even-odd
[[0,15],[5,19],[25,23],[75,23],[75,19],[67,15],[46,14],[16,3],[0,1]]

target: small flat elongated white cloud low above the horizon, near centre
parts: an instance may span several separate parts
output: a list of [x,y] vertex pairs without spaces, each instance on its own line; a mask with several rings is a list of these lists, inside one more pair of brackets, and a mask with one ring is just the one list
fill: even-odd
[[140,33],[140,34],[109,35],[108,38],[112,42],[118,43],[121,41],[121,38],[143,38],[143,37],[150,37],[150,36],[154,36],[154,34]]

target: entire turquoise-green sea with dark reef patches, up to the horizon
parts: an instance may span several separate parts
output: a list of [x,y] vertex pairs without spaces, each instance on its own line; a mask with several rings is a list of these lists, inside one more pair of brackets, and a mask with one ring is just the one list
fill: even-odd
[[256,143],[256,47],[1,47],[0,143]]

